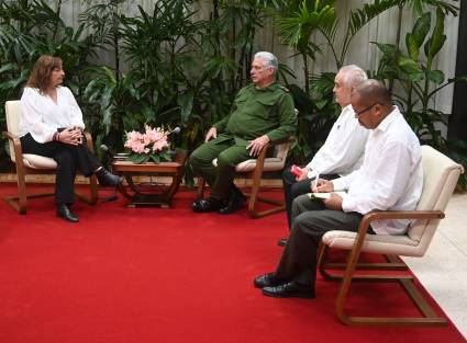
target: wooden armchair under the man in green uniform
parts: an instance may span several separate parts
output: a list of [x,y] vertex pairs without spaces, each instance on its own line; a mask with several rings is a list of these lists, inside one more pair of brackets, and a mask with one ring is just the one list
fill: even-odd
[[[238,175],[252,179],[252,188],[249,194],[246,195],[249,197],[248,211],[253,218],[262,218],[286,209],[286,205],[282,201],[259,196],[259,188],[262,176],[265,172],[283,170],[287,153],[293,141],[293,138],[289,138],[277,144],[269,144],[263,149],[257,159],[249,159],[236,165],[235,171]],[[274,149],[273,157],[266,157],[269,148]],[[218,160],[214,159],[212,162],[216,165]],[[203,196],[204,183],[204,179],[200,178],[198,180],[198,198]],[[271,204],[274,207],[258,211],[258,202]]]

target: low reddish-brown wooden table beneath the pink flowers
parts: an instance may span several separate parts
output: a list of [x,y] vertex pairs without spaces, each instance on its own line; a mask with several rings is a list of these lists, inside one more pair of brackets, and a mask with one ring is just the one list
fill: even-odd
[[[160,206],[170,207],[174,194],[178,191],[185,170],[187,151],[177,151],[173,162],[142,163],[136,164],[127,160],[112,162],[112,171],[122,175],[127,185],[120,184],[119,191],[130,199],[127,207],[135,206]],[[169,176],[171,184],[154,182],[138,183],[134,176]]]

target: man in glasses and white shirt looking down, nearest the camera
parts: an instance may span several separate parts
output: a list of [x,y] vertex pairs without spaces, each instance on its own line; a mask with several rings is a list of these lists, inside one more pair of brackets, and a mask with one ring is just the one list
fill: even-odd
[[[316,251],[329,230],[357,231],[362,217],[371,210],[412,210],[422,193],[420,142],[389,92],[376,80],[352,91],[352,106],[362,126],[370,129],[362,167],[332,181],[319,180],[313,192],[331,193],[324,201],[301,195],[292,204],[292,230],[274,273],[254,284],[273,297],[314,297]],[[373,221],[370,233],[403,235],[408,220]]]

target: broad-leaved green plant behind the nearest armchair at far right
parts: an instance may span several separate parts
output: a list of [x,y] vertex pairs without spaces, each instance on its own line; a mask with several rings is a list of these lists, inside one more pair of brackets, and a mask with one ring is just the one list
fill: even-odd
[[[421,142],[435,147],[467,167],[466,146],[442,135],[441,127],[447,126],[447,116],[432,107],[433,98],[440,90],[454,82],[467,81],[467,77],[445,81],[443,71],[432,69],[433,59],[446,39],[444,20],[445,14],[440,8],[436,10],[433,28],[430,13],[422,13],[418,18],[412,32],[407,34],[409,56],[404,56],[393,45],[376,44],[382,53],[377,77],[382,80],[396,80],[401,85],[402,92],[396,93],[394,96]],[[422,47],[425,56],[420,56]],[[464,176],[460,184],[466,184]]]

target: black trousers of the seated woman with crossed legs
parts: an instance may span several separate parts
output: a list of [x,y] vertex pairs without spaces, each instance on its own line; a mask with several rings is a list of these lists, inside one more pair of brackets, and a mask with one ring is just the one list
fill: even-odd
[[34,153],[53,158],[57,162],[55,176],[55,203],[73,204],[75,202],[75,176],[79,169],[85,176],[90,176],[102,164],[88,149],[86,137],[82,144],[70,146],[59,141],[37,142],[27,134],[20,138],[23,153]]

